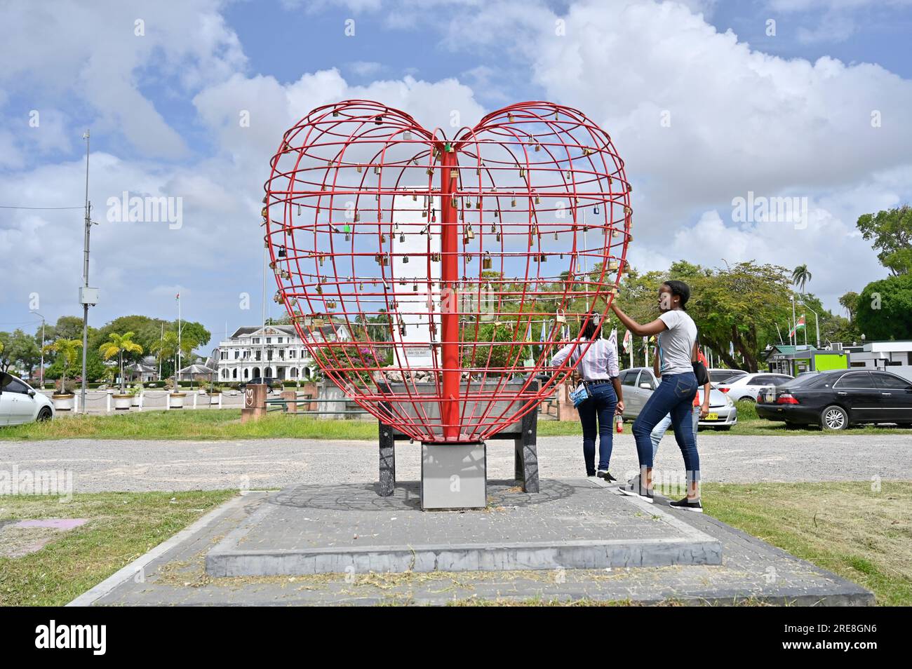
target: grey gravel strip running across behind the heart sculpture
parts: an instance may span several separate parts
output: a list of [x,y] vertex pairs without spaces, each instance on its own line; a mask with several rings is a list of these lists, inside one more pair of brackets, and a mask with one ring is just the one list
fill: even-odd
[[[396,447],[397,479],[420,478],[420,446]],[[261,439],[138,441],[67,439],[0,443],[0,489],[12,473],[72,472],[74,492],[263,489],[296,483],[376,481],[377,446],[368,441]],[[912,479],[912,435],[700,436],[703,480],[720,482]],[[543,479],[585,476],[579,437],[542,437]],[[658,451],[659,469],[682,469],[674,438]],[[611,470],[637,468],[633,437],[615,436]],[[513,477],[512,442],[488,448],[488,478]]]

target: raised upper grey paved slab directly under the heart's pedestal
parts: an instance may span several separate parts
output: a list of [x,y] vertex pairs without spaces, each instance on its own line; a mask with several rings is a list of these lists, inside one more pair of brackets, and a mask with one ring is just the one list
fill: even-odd
[[673,512],[592,479],[524,493],[488,482],[486,509],[421,511],[418,484],[299,485],[260,509],[206,556],[211,576],[354,571],[516,571],[720,564],[718,540]]

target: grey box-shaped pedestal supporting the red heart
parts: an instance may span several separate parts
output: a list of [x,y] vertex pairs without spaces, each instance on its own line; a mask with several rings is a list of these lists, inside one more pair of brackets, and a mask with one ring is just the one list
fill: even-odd
[[483,509],[484,444],[421,444],[421,509]]

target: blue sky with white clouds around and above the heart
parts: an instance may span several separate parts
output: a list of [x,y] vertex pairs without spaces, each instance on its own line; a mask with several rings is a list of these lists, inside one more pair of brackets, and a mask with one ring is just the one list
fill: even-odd
[[[565,35],[555,36],[556,21]],[[855,233],[857,216],[912,190],[910,28],[912,3],[902,0],[82,9],[14,0],[0,7],[0,205],[80,205],[80,138],[91,127],[91,283],[102,294],[91,323],[171,318],[180,291],[184,315],[217,340],[226,323],[260,318],[259,198],[268,157],[296,118],[371,97],[426,125],[443,125],[454,108],[470,124],[513,101],[551,99],[596,119],[627,160],[637,267],[807,262],[809,290],[836,310],[840,294],[886,274]],[[244,109],[253,122],[241,131]],[[181,197],[181,228],[109,221],[105,202],[125,190]],[[732,198],[748,191],[807,198],[808,225],[733,221]],[[36,298],[50,320],[78,314],[80,217],[0,209],[0,329],[32,329]]]

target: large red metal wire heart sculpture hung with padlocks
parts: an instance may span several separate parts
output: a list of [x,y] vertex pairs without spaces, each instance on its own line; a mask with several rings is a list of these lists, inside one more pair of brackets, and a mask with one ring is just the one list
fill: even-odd
[[316,108],[265,191],[275,301],[326,377],[423,442],[481,441],[550,396],[580,355],[536,375],[605,316],[630,241],[611,139],[550,102],[453,139],[377,102]]

